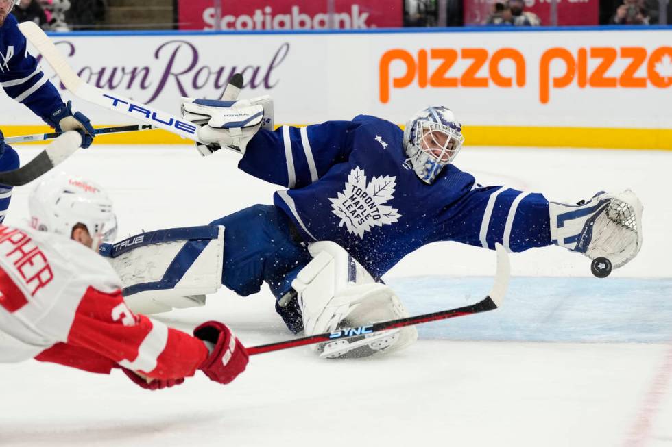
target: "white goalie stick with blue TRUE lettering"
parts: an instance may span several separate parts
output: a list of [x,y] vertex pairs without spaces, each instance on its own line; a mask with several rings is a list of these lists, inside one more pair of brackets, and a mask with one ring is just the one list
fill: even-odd
[[118,94],[111,94],[110,92],[86,84],[86,82],[77,76],[77,73],[68,65],[64,56],[56,49],[53,42],[49,40],[45,31],[36,25],[36,23],[20,23],[19,30],[21,30],[21,33],[23,33],[28,42],[38,49],[42,57],[49,62],[49,65],[51,65],[53,71],[56,71],[65,88],[75,95],[75,97],[109,110],[115,110],[115,112],[130,116],[143,123],[151,124],[159,129],[176,133],[182,138],[201,142],[197,136],[198,126],[191,123],[191,121],[155,109],[151,105],[146,105]]

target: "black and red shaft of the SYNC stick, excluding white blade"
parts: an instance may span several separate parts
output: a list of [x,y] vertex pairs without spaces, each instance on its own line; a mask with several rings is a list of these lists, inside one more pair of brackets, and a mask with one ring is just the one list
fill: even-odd
[[249,355],[269,353],[274,350],[296,348],[297,346],[305,346],[308,344],[315,344],[320,342],[329,342],[342,338],[357,337],[358,335],[365,335],[379,331],[387,331],[398,327],[411,326],[413,324],[427,323],[431,321],[447,320],[448,318],[461,317],[465,315],[480,314],[481,312],[496,309],[497,305],[492,301],[490,296],[478,303],[458,307],[457,309],[449,309],[444,311],[433,312],[432,314],[423,314],[408,318],[399,318],[398,320],[389,320],[374,324],[367,324],[365,326],[344,328],[339,331],[325,332],[318,335],[311,335],[310,337],[302,337],[294,340],[286,340],[285,342],[262,344],[259,346],[252,346],[247,348]]

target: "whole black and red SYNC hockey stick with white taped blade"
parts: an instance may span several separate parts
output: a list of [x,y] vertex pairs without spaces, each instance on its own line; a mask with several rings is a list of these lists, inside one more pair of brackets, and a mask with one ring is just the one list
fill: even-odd
[[492,289],[490,289],[488,296],[485,296],[485,298],[483,298],[483,300],[479,301],[478,303],[464,307],[457,307],[457,309],[433,312],[431,314],[399,318],[398,320],[383,321],[360,327],[337,329],[333,332],[296,338],[294,340],[285,340],[284,342],[252,346],[247,348],[248,354],[263,354],[274,350],[296,348],[296,346],[330,342],[333,340],[340,340],[357,336],[361,337],[361,335],[379,331],[387,331],[389,329],[395,329],[398,327],[411,326],[412,324],[446,320],[447,318],[455,318],[465,315],[480,314],[481,312],[496,309],[502,305],[504,295],[506,294],[506,290],[509,285],[509,277],[511,276],[511,272],[509,268],[509,256],[507,255],[505,248],[501,244],[495,244],[495,250],[497,253],[497,272],[494,277],[494,284],[492,285]]

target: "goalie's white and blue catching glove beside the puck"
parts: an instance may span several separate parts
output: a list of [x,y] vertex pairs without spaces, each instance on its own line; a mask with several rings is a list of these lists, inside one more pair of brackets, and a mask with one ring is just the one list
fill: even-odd
[[642,248],[642,209],[631,190],[599,192],[577,205],[551,202],[551,239],[590,259],[605,257],[619,268]]

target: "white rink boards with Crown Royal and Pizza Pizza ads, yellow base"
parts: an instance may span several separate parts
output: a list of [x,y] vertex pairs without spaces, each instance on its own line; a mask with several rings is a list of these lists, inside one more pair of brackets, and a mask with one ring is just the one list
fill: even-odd
[[[218,99],[228,77],[241,72],[243,97],[274,97],[276,124],[365,113],[403,125],[412,112],[443,104],[465,125],[470,145],[672,149],[666,110],[672,102],[671,28],[417,31],[51,37],[84,81],[173,114],[180,97]],[[0,115],[5,135],[36,131],[27,126],[40,125],[38,118],[6,103]],[[97,125],[128,122],[101,107],[75,104]],[[102,142],[183,140],[154,132]]]

